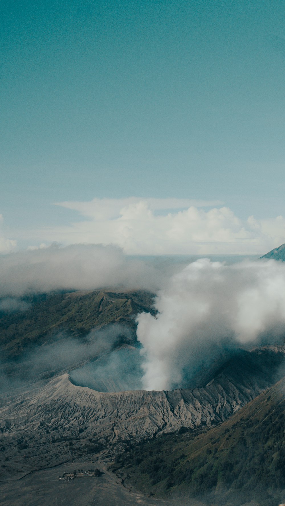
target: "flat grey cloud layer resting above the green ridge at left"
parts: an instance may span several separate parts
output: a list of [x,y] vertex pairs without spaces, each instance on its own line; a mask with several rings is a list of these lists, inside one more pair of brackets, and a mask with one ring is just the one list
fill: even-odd
[[161,277],[159,270],[126,257],[116,246],[53,244],[0,257],[2,298],[58,289],[155,290]]

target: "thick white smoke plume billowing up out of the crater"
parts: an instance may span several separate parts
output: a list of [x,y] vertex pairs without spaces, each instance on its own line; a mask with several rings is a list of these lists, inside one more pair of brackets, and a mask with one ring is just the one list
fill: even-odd
[[180,386],[221,346],[272,343],[285,335],[285,264],[269,261],[227,266],[208,259],[188,265],[158,293],[154,317],[137,317],[147,390]]

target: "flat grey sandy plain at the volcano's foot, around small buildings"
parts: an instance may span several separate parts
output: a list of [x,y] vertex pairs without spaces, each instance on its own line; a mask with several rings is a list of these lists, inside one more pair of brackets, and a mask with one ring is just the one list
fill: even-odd
[[[86,459],[65,463],[55,468],[30,473],[20,480],[0,477],[1,506],[173,506],[172,499],[159,499],[133,486],[126,486],[122,475],[110,472],[101,461],[96,466],[102,475],[59,481],[63,472],[88,469],[94,464]],[[120,475],[120,476],[119,476]],[[181,500],[178,506],[205,506],[197,500]]]

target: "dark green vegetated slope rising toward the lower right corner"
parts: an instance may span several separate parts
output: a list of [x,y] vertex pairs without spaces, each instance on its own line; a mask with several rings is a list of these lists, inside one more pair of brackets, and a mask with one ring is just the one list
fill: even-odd
[[221,425],[195,436],[160,436],[116,459],[141,489],[209,503],[285,499],[285,378]]

